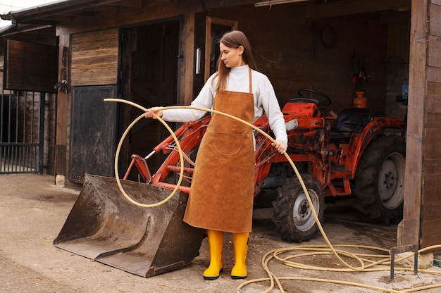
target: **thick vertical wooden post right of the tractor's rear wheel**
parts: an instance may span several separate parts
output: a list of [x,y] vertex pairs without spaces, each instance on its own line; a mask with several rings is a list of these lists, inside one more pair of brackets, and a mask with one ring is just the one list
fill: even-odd
[[[428,1],[412,1],[409,65],[409,104],[407,106],[406,185],[402,245],[420,244],[423,188],[424,123],[426,119],[426,58]],[[399,241],[399,239],[398,239]]]

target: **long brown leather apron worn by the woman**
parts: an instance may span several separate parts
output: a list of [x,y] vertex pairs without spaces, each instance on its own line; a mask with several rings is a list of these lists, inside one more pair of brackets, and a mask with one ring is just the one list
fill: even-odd
[[[252,122],[251,69],[249,93],[219,92],[213,109]],[[213,114],[199,146],[185,222],[209,230],[251,232],[254,164],[251,127]]]

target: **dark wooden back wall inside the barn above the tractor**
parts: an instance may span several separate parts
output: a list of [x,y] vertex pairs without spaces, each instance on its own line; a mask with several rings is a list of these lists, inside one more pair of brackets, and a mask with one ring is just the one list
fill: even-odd
[[[388,27],[395,23],[388,23],[380,15],[309,20],[304,18],[302,6],[293,4],[271,9],[243,6],[213,11],[210,15],[239,21],[239,30],[249,37],[261,71],[273,83],[280,104],[297,96],[299,88],[309,87],[328,94],[333,99],[328,109],[337,113],[352,106],[353,58],[357,60],[362,55],[366,58],[368,106],[374,113],[385,113],[387,91],[392,91],[389,95],[393,100],[387,104],[397,107],[395,93],[401,92],[402,79],[407,75],[396,77],[387,89],[387,67],[395,70],[397,66],[409,66],[409,11],[404,18],[406,24],[399,26],[404,30],[407,27],[407,35],[392,36],[401,39],[400,44],[407,44],[401,50],[405,53],[400,52],[403,58],[387,58],[390,51],[397,51],[388,49]],[[403,108],[404,111],[394,114],[404,117]]]

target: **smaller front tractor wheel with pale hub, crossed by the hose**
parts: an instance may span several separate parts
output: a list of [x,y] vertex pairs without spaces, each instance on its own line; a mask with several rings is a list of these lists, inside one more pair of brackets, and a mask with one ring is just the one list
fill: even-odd
[[[302,175],[313,208],[318,219],[323,219],[325,192],[320,182],[310,175]],[[273,201],[273,223],[280,237],[288,242],[310,240],[318,226],[311,206],[297,177],[287,178],[285,185],[278,187],[278,197]]]

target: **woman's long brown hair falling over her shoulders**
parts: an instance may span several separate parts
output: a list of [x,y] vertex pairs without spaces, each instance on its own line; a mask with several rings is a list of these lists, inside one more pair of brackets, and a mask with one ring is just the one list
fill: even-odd
[[[233,30],[231,32],[226,32],[225,35],[221,37],[218,43],[222,43],[230,48],[239,48],[239,46],[244,47],[244,52],[242,53],[242,59],[245,64],[247,64],[251,69],[259,70],[256,61],[254,61],[253,54],[251,52],[251,45],[249,44],[247,36],[240,30]],[[218,77],[218,84],[216,85],[216,92],[224,92],[227,87],[228,74],[230,69],[225,66],[225,63],[221,60],[222,54],[218,58],[218,71],[215,77]],[[214,80],[214,78],[213,78]],[[211,82],[213,82],[211,80]]]

